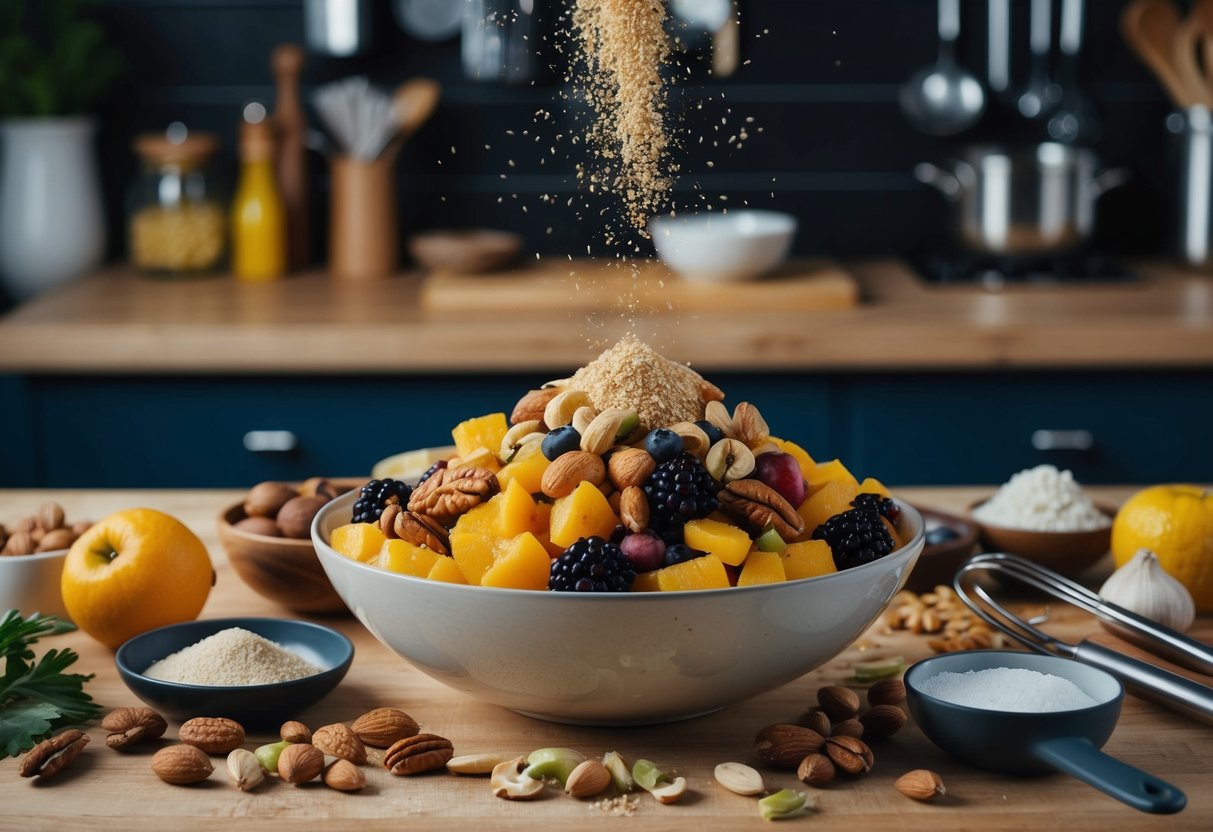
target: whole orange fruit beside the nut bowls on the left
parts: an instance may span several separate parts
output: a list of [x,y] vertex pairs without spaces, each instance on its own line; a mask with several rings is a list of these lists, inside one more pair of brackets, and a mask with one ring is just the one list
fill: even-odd
[[63,605],[110,648],[148,629],[193,621],[215,582],[210,555],[181,520],[153,508],[110,514],[63,563]]

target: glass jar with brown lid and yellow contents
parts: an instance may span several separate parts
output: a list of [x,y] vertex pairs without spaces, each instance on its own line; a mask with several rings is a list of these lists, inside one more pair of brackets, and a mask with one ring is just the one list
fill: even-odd
[[211,171],[218,138],[176,121],[137,136],[133,149],[142,165],[131,196],[131,261],[159,277],[217,269],[227,249],[224,198]]

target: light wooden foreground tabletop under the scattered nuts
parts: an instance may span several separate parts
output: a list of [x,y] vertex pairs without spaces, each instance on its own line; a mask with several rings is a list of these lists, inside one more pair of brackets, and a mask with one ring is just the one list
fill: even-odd
[[[901,496],[922,506],[962,511],[990,489],[916,489]],[[1090,489],[1097,500],[1117,503],[1131,489]],[[204,617],[286,615],[254,594],[233,574],[215,536],[215,517],[235,502],[237,491],[0,491],[0,518],[23,515],[46,498],[59,501],[72,517],[99,518],[136,505],[152,506],[181,518],[206,542],[218,580]],[[1054,608],[1048,628],[1064,638],[1098,629],[1089,619]],[[376,706],[398,706],[427,730],[452,740],[456,752],[518,751],[570,746],[591,754],[617,748],[634,759],[645,756],[688,779],[691,793],[678,805],[664,807],[642,796],[630,817],[610,816],[587,803],[549,790],[548,799],[508,803],[494,798],[484,779],[434,774],[392,777],[369,765],[368,788],[340,794],[323,786],[302,788],[270,781],[241,794],[227,780],[221,760],[201,786],[175,787],[148,770],[149,752],[118,753],[104,746],[103,733],[90,730],[85,756],[56,780],[40,783],[16,776],[13,759],[0,760],[0,827],[8,830],[224,828],[239,819],[240,828],[471,828],[556,830],[739,830],[769,828],[758,816],[754,798],[724,792],[712,780],[717,763],[751,760],[754,731],[774,722],[795,720],[814,701],[822,684],[843,680],[856,657],[876,651],[896,653],[915,661],[928,655],[924,638],[909,633],[885,636],[877,625],[856,648],[827,666],[769,694],[718,713],[684,723],[640,729],[591,729],[557,725],[520,717],[451,691],[414,669],[381,646],[352,617],[323,620],[349,636],[357,646],[353,667],[326,700],[298,716],[313,728],[351,720]],[[1213,638],[1213,620],[1197,623],[1195,634]],[[107,708],[136,705],[113,666],[113,655],[81,633],[42,642],[79,651],[76,669],[95,672],[90,693]],[[862,648],[859,649],[859,648]],[[284,714],[285,716],[285,714]],[[170,736],[176,725],[170,726]],[[250,736],[250,746],[268,741]],[[861,780],[837,782],[815,792],[820,810],[792,824],[813,830],[881,832],[911,826],[950,830],[1209,830],[1213,828],[1213,728],[1127,697],[1120,724],[1105,751],[1155,774],[1188,793],[1188,808],[1156,817],[1134,811],[1064,775],[1008,777],[970,769],[932,746],[912,725],[893,740],[873,743],[876,765]],[[913,768],[938,771],[947,797],[936,804],[911,802],[893,790],[893,781]],[[798,785],[791,773],[767,776],[771,787]],[[788,826],[788,828],[796,828]]]

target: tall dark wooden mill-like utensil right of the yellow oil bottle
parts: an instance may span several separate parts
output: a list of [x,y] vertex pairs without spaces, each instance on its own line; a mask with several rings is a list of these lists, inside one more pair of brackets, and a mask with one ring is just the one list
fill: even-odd
[[303,50],[297,44],[277,46],[269,58],[278,97],[273,124],[278,133],[278,189],[286,211],[286,263],[291,270],[308,264],[307,116],[300,101]]

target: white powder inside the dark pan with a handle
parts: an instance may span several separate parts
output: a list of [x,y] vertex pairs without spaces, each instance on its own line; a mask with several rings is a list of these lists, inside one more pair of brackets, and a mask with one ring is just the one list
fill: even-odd
[[1098,705],[1070,679],[1023,667],[936,673],[919,682],[918,690],[952,705],[984,711],[1044,713]]

